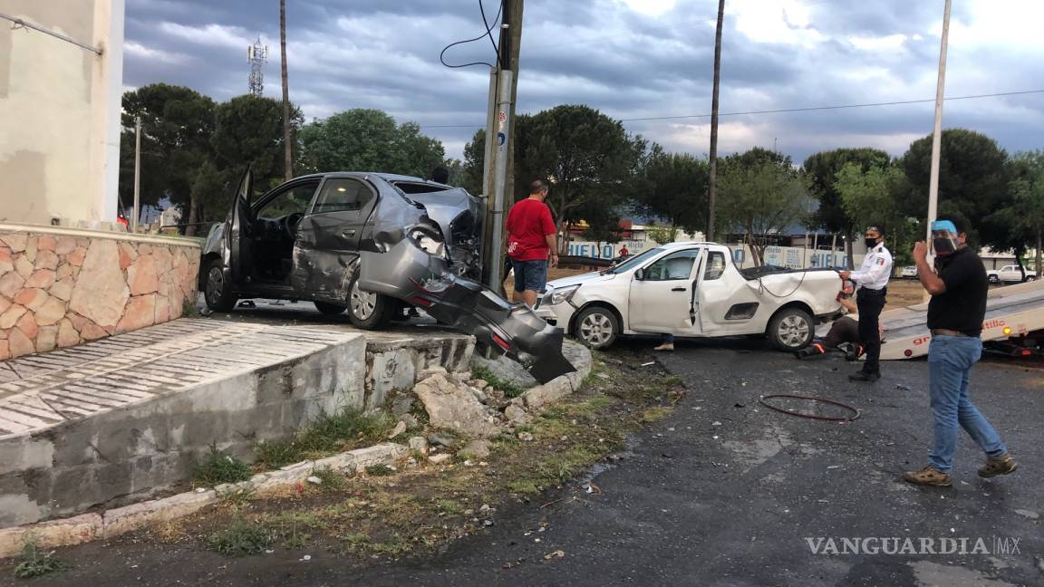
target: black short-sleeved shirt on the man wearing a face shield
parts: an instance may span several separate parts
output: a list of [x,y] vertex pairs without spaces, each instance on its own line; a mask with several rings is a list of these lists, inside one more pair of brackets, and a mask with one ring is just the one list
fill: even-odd
[[982,259],[967,246],[935,258],[935,273],[946,291],[928,302],[928,328],[957,330],[969,336],[982,332],[986,295],[990,288]]

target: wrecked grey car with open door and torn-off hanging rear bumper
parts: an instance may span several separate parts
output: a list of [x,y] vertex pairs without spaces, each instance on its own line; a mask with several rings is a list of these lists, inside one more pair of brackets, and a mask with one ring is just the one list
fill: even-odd
[[417,307],[523,363],[540,382],[573,371],[561,329],[477,282],[484,213],[466,190],[332,172],[255,199],[252,184],[247,170],[228,219],[204,246],[199,289],[212,310],[231,310],[240,298],[308,300],[376,330]]

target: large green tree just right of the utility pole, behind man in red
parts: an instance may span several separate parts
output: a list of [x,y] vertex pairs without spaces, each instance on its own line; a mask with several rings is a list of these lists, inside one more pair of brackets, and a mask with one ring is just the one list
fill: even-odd
[[[586,105],[560,105],[515,121],[516,186],[551,182],[547,204],[560,232],[583,219],[589,204],[616,209],[635,186],[646,148],[618,120]],[[516,197],[522,195],[516,193]],[[566,239],[560,246],[565,250]]]

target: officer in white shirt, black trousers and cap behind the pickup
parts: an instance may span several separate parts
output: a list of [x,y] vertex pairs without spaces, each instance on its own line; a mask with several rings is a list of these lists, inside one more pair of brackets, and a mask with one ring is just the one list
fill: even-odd
[[874,382],[881,378],[881,332],[878,322],[884,298],[888,292],[888,278],[892,277],[892,253],[884,248],[884,235],[880,226],[869,226],[863,235],[867,239],[867,256],[862,266],[856,272],[840,272],[841,279],[850,279],[859,286],[855,303],[859,309],[859,341],[867,350],[867,362],[857,373],[849,375],[852,381]]

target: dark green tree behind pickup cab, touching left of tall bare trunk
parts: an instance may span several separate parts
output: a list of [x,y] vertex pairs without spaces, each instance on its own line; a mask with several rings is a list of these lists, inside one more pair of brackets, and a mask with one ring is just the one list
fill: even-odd
[[666,220],[688,233],[707,227],[709,165],[688,154],[668,154],[654,145],[642,165],[644,189],[635,194],[638,214]]

